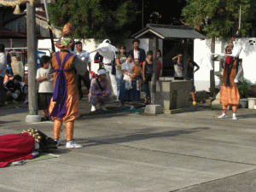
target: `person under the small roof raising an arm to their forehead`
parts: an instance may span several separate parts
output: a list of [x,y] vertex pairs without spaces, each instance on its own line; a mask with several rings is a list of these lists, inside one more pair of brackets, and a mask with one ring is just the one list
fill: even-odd
[[174,63],[174,79],[183,80],[183,55],[178,54],[172,58]]

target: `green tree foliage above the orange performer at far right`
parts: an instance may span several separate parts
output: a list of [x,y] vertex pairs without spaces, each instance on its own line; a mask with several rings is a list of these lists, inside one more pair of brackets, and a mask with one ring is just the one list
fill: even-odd
[[241,34],[252,25],[254,0],[186,0],[183,17],[189,26],[206,32],[208,38],[230,38],[238,31],[241,5]]

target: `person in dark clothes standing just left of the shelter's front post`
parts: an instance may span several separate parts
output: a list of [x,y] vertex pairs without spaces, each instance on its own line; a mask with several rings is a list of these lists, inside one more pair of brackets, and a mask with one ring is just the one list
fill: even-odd
[[146,61],[143,62],[143,90],[145,92],[145,104],[150,104],[151,96],[149,89],[149,81],[151,81],[153,76],[153,52],[148,51]]

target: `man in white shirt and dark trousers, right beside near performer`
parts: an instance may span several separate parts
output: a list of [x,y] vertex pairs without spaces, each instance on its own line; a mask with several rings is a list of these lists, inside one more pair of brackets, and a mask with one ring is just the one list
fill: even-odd
[[[90,71],[90,54],[86,51],[83,50],[83,44],[82,42],[78,41],[75,44],[75,51],[74,51],[74,55],[79,56],[79,58],[88,63],[89,66],[89,71]],[[87,92],[89,93],[90,90],[90,73],[87,70],[86,73],[84,75],[77,75],[77,84],[78,84],[78,89],[79,89],[79,98],[80,100],[83,98],[83,91],[82,91],[82,84],[81,81],[83,80],[84,85],[87,88]]]

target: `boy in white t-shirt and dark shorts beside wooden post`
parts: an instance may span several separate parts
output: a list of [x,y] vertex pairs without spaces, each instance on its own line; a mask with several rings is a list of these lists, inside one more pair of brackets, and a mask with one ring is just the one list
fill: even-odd
[[50,74],[50,58],[49,56],[42,56],[41,67],[38,68],[37,81],[39,83],[38,87],[38,107],[40,110],[44,111],[42,120],[49,119],[49,102],[52,97],[54,86],[53,78]]

